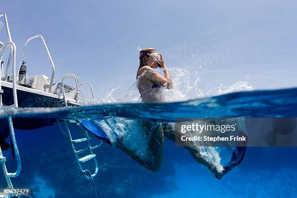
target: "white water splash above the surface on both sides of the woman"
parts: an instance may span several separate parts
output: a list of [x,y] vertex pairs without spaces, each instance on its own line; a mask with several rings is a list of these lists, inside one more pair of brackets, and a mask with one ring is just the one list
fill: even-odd
[[[159,72],[157,70],[157,72]],[[200,88],[199,82],[201,79],[198,76],[198,71],[191,72],[181,68],[170,68],[169,72],[173,81],[172,89],[162,88],[160,94],[164,102],[185,101],[189,99],[206,98],[232,92],[252,91],[255,88],[248,82],[237,81],[230,86],[220,84],[207,91]],[[101,103],[116,103],[116,102],[140,102],[141,97],[137,89],[137,81],[126,90],[126,93],[120,93],[125,90],[124,87],[118,86],[108,92]],[[124,91],[125,92],[125,91]],[[119,98],[121,97],[121,98]],[[119,98],[119,99],[118,99]]]

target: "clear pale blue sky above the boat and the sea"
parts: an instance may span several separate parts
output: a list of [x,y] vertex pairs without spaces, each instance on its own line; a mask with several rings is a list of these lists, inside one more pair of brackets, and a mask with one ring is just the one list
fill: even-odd
[[[188,72],[189,81],[199,78],[203,92],[238,81],[258,89],[296,86],[296,10],[293,0],[2,0],[0,7],[17,57],[27,38],[42,34],[55,76],[77,74],[98,98],[135,82],[137,46],[161,51],[168,67]],[[0,40],[7,42],[3,28]],[[50,76],[41,43],[27,49],[29,75]]]

